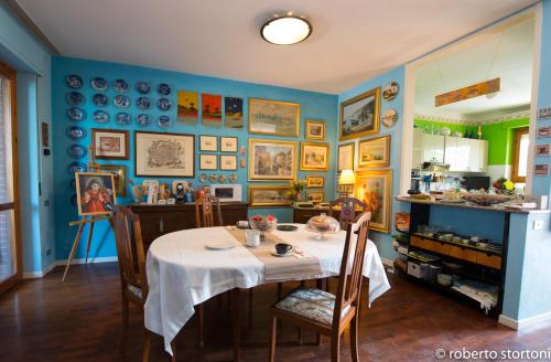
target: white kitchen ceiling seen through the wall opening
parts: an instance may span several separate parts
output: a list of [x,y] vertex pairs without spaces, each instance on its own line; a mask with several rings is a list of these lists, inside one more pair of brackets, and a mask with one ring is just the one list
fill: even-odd
[[[511,20],[435,54],[415,72],[415,114],[463,120],[528,109],[532,86],[533,18]],[[435,107],[434,96],[500,77],[494,97]]]

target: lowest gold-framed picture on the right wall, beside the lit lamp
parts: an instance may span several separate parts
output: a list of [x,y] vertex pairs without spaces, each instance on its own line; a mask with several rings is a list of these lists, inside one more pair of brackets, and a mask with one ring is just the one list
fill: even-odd
[[392,170],[356,173],[356,199],[365,202],[371,212],[369,228],[388,233],[392,207]]

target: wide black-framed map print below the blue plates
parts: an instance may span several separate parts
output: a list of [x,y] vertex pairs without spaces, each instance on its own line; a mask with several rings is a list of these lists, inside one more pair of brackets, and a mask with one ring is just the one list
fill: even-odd
[[137,177],[195,175],[194,135],[136,131],[134,145]]

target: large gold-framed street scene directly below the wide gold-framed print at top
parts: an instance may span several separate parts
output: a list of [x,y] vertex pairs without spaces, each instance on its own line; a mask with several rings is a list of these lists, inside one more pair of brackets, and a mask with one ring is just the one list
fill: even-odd
[[296,179],[296,142],[249,139],[249,181]]

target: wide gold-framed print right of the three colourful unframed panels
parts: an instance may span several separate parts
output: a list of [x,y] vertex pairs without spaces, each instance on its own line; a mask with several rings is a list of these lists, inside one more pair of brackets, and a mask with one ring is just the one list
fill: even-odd
[[300,117],[296,103],[249,99],[249,134],[299,137]]

